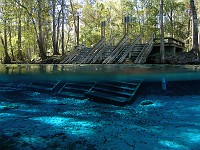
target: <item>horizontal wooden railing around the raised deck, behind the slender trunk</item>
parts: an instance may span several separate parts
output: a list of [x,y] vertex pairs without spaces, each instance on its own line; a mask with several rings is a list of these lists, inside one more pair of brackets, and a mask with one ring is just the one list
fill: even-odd
[[[170,44],[170,45],[176,45],[176,46],[180,46],[180,47],[185,47],[185,43],[181,40],[177,40],[175,38],[172,37],[165,37],[164,38],[164,43]],[[160,45],[160,38],[154,38],[154,45]]]

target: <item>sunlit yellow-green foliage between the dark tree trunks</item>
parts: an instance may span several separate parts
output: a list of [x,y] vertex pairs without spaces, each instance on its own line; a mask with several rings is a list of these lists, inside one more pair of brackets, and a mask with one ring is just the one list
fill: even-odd
[[[17,2],[20,2],[19,5]],[[7,28],[8,52],[17,55],[18,49],[18,24],[21,17],[22,40],[21,50],[25,59],[30,60],[32,56],[39,57],[39,47],[37,44],[38,30],[38,3],[33,0],[7,0],[7,6],[1,1],[2,15],[0,19],[0,31],[3,36],[4,28]],[[52,1],[44,0],[42,3],[42,31],[45,51],[53,49],[52,43]],[[101,22],[106,21],[106,40],[115,37],[115,44],[124,35],[124,17],[130,16],[129,35],[134,38],[142,33],[143,41],[149,39],[153,33],[159,34],[158,15],[159,1],[157,0],[107,0],[90,1],[83,0],[84,5],[73,2],[74,12],[65,1],[65,44],[66,52],[72,50],[74,45],[74,20],[73,13],[81,10],[80,16],[80,42],[91,47],[101,38]],[[177,2],[176,0],[164,1],[165,14],[165,35],[174,36],[178,39],[186,39],[188,36],[187,10],[189,2]],[[61,9],[61,0],[56,2],[57,14]],[[31,15],[30,15],[31,14]],[[58,16],[58,15],[57,15]],[[3,26],[3,20],[7,20],[7,27]],[[57,18],[56,18],[57,19]],[[33,22],[34,21],[34,22]],[[77,21],[77,20],[76,20]],[[36,24],[36,29],[34,27]],[[76,22],[77,23],[77,22]],[[61,33],[60,33],[61,34]],[[59,46],[61,46],[61,35],[59,35]],[[0,43],[0,57],[3,54],[3,45]]]

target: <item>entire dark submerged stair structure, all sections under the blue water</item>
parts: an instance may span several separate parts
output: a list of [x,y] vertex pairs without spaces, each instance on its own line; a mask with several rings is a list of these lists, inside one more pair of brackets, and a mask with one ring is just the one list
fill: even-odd
[[132,104],[141,86],[141,80],[121,81],[35,81],[26,88],[65,98],[89,99],[95,102],[125,106]]

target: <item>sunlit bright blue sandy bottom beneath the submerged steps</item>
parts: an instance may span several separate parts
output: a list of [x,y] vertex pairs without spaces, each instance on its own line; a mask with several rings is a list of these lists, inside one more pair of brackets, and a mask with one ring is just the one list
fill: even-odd
[[118,107],[0,88],[0,149],[199,150],[200,95]]

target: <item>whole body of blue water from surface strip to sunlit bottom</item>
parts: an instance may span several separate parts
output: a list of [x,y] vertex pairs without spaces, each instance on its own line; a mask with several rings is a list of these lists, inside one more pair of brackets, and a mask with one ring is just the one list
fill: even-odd
[[0,65],[1,150],[198,150],[198,65]]

